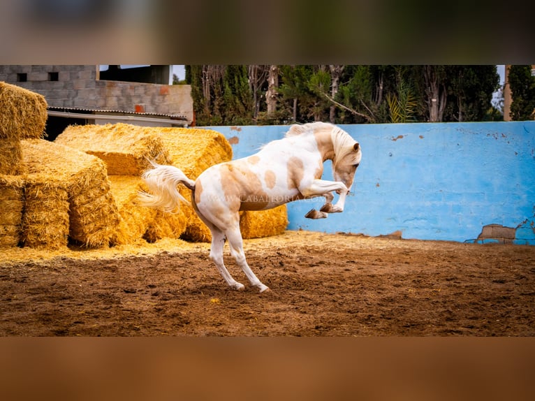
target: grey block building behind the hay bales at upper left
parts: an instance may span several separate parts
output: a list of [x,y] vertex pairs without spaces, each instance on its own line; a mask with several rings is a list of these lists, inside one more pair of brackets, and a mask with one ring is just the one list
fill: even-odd
[[0,81],[45,96],[47,139],[70,124],[188,126],[190,85],[169,85],[171,66],[0,66]]

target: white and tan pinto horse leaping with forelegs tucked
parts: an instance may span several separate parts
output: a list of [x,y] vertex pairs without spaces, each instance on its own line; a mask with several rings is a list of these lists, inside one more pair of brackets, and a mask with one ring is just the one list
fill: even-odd
[[[142,205],[172,212],[180,201],[187,203],[177,184],[191,189],[193,209],[212,232],[210,258],[227,284],[244,289],[223,264],[225,238],[251,285],[263,292],[268,286],[254,275],[245,259],[240,210],[267,210],[298,199],[324,196],[325,205],[305,217],[321,219],[328,213],[343,212],[361,156],[358,142],[337,126],[323,122],[296,124],[284,138],[264,145],[258,153],[211,166],[195,181],[179,168],[153,163],[154,168],[142,175],[152,194],[140,192],[139,200]],[[332,160],[335,181],[321,180],[323,162],[328,159]],[[334,205],[333,191],[339,194]]]

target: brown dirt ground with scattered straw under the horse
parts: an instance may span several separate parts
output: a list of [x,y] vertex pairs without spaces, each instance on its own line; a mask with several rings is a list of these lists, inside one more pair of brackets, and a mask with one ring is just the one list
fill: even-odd
[[535,247],[287,231],[245,251],[271,291],[249,286],[226,247],[246,285],[228,288],[209,245],[179,240],[112,256],[3,256],[0,335],[535,335]]

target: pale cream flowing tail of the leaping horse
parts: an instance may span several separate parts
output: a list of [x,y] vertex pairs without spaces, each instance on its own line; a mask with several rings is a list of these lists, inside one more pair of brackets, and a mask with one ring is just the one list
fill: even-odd
[[186,201],[177,190],[177,185],[184,184],[193,191],[195,182],[186,177],[182,170],[175,166],[163,166],[154,163],[154,161],[150,161],[150,163],[154,168],[145,171],[141,178],[151,193],[138,191],[138,203],[170,213],[178,212],[180,202],[189,204],[189,201]]

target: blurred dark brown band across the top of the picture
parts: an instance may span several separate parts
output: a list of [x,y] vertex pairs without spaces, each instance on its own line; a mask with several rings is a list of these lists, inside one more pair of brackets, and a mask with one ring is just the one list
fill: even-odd
[[[0,0],[1,64],[534,64],[516,1]],[[68,2],[67,2],[68,3]],[[46,10],[44,12],[43,10]]]

